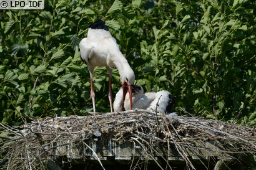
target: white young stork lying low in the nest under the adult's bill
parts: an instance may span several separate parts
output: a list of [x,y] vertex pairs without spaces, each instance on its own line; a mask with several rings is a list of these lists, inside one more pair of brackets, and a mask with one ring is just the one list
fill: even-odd
[[[130,110],[130,103],[128,102],[129,94],[126,94],[124,100],[124,109]],[[122,111],[120,107],[122,102],[122,87],[116,94],[116,100],[114,101],[114,111]],[[145,110],[155,111],[160,113],[170,113],[172,111],[172,104],[174,98],[170,92],[162,90],[160,92],[144,93],[144,90],[139,85],[132,85],[132,108],[139,108]]]

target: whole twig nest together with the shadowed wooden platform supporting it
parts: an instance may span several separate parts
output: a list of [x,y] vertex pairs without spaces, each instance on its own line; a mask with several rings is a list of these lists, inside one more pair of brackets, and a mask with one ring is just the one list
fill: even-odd
[[[0,124],[1,169],[250,169],[254,128],[131,110]],[[4,135],[3,135],[4,134]]]

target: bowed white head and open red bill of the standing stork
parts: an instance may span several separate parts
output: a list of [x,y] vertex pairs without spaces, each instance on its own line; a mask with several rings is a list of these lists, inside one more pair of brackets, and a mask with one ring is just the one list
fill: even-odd
[[121,110],[124,106],[124,99],[126,98],[126,93],[129,91],[129,97],[130,97],[130,110],[132,110],[132,85],[134,84],[135,75],[132,68],[126,68],[124,69],[124,72],[122,75],[120,75],[121,79],[121,85],[122,85],[122,104],[121,104]]

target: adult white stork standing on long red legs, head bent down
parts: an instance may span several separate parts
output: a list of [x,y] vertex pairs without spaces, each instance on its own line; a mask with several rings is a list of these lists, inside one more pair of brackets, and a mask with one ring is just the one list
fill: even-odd
[[[113,111],[111,92],[113,67],[116,67],[119,71],[124,97],[126,96],[127,90],[129,90],[130,108],[132,108],[132,85],[135,80],[134,71],[130,68],[130,65],[116,43],[116,39],[111,36],[109,29],[107,29],[103,21],[96,21],[89,26],[87,38],[81,40],[79,50],[81,59],[86,62],[90,72],[91,97],[94,112],[96,108],[92,77],[94,68],[97,66],[105,66],[109,73],[109,103],[111,105],[111,111]],[[122,98],[121,108],[124,103],[124,97]]]

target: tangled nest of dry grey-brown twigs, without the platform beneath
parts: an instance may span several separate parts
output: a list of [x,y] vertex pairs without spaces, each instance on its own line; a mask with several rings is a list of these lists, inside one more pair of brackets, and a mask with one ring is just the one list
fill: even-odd
[[[43,118],[17,127],[0,124],[0,128],[2,134],[6,134],[0,137],[0,168],[12,170],[45,169],[49,160],[54,161],[61,156],[69,158],[68,160],[77,157],[82,159],[86,158],[85,153],[91,153],[104,169],[101,154],[89,144],[89,141],[101,138],[119,143],[134,143],[134,148],[143,151],[139,158],[155,161],[160,169],[172,169],[168,162],[170,154],[174,155],[174,150],[187,169],[195,169],[191,155],[199,157],[198,152],[202,150],[210,156],[213,152],[217,153],[218,160],[222,163],[227,155],[254,155],[256,152],[254,128],[146,110]],[[207,148],[204,143],[209,141],[221,144],[221,147],[217,151],[214,150],[216,148]],[[165,148],[165,153],[157,149],[159,145],[160,148]],[[156,156],[162,156],[164,168]],[[225,165],[227,166],[227,162]],[[130,166],[132,168],[134,167]]]

